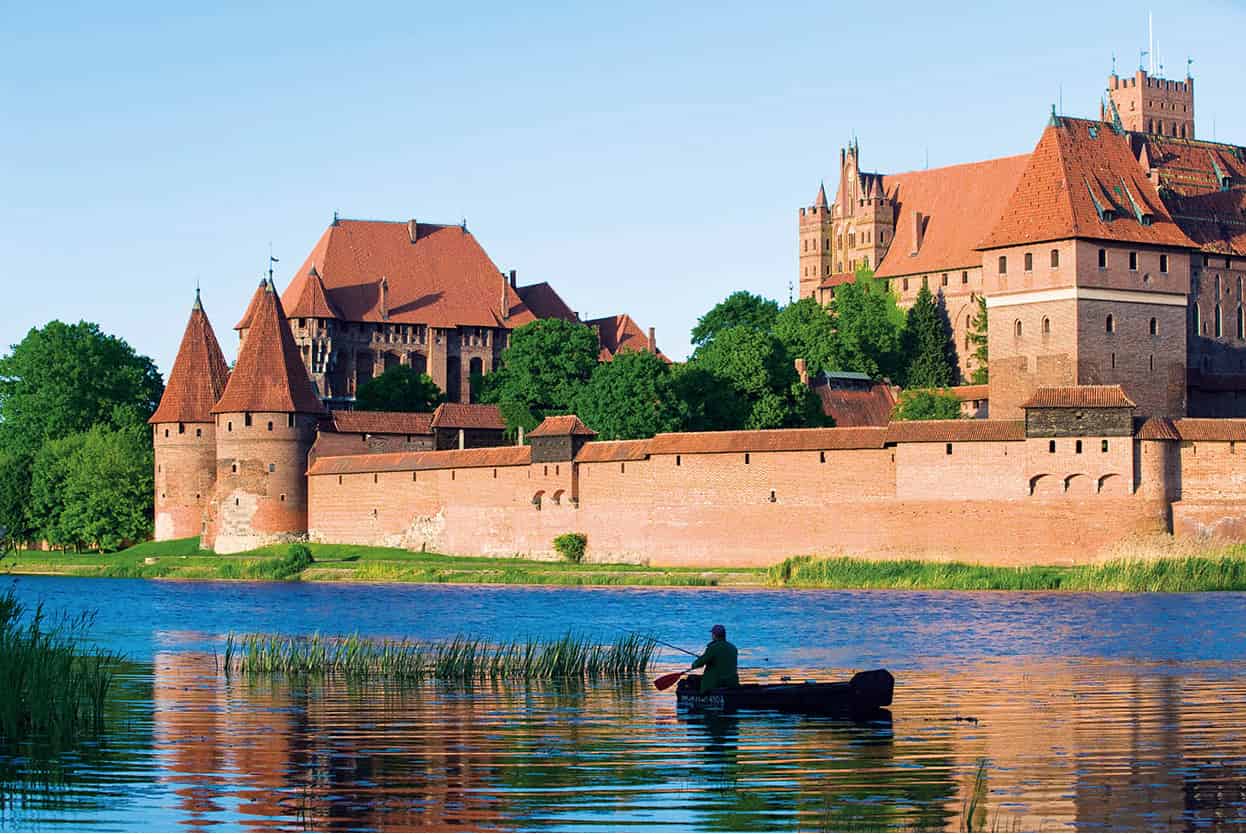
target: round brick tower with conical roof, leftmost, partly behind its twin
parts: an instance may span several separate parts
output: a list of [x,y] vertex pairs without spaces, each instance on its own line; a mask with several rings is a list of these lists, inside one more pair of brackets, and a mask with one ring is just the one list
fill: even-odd
[[156,541],[203,532],[217,472],[212,406],[228,379],[229,367],[196,290],[168,385],[148,420],[156,448]]

